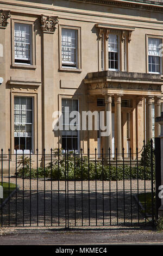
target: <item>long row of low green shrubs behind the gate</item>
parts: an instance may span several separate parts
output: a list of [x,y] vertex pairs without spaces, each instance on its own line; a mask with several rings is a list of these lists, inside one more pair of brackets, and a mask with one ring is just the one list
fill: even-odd
[[[66,157],[66,161],[65,161]],[[49,178],[53,180],[123,180],[124,179],[144,179],[151,180],[151,168],[143,166],[130,167],[125,165],[120,166],[102,166],[102,162],[89,160],[87,156],[82,158],[73,154],[63,155],[61,150],[53,150],[53,161],[49,162],[45,169],[39,167],[32,168],[29,157],[20,157],[18,161],[17,176],[24,178]]]

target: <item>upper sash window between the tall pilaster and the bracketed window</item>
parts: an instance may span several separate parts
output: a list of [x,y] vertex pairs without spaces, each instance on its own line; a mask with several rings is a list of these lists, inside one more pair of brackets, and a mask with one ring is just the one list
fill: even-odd
[[62,28],[62,67],[78,68],[78,31]]

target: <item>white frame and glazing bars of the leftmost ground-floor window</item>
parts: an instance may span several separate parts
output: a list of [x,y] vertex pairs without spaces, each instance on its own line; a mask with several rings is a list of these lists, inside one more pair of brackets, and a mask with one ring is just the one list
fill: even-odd
[[[31,98],[32,99],[32,123],[23,123],[23,124],[31,124],[32,125],[32,149],[31,149],[31,153],[33,153],[34,151],[34,97],[32,96],[19,96],[19,95],[15,95],[14,96],[14,101],[15,101],[15,97],[18,97],[18,98],[21,98],[21,97],[24,97],[27,99],[28,98]],[[15,106],[15,103],[14,103],[14,106]],[[15,107],[14,107],[14,112],[15,112]],[[21,124],[21,123],[15,123],[14,121],[14,125],[15,124]],[[18,137],[20,138],[21,136],[15,136],[14,135],[14,148],[15,148],[15,137]],[[23,136],[22,136],[23,137]],[[24,137],[27,137],[27,136],[24,136]],[[30,150],[29,149],[24,149],[24,154],[29,154],[30,153]],[[14,154],[16,154],[16,150],[14,149]],[[17,149],[17,154],[23,154],[23,149]]]

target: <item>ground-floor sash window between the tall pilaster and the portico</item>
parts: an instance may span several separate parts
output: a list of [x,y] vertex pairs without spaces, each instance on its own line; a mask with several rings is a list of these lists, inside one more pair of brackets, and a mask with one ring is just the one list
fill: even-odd
[[[78,100],[72,99],[62,99],[62,115],[63,115],[63,126],[64,130],[62,131],[62,149],[68,150],[78,150],[79,149],[79,131],[73,130],[71,127],[71,121],[75,117],[70,117],[72,111],[77,111],[79,109]],[[74,126],[78,125],[78,117],[76,119]]]

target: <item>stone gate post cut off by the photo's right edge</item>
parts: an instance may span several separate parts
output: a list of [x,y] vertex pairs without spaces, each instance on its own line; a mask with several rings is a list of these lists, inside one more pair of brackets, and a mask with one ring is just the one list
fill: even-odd
[[159,138],[155,138],[156,213],[158,213],[159,216],[163,216],[163,198],[159,197],[159,186],[163,185],[163,112],[161,112],[161,117],[155,118],[155,122],[161,125],[161,135],[159,136]]

